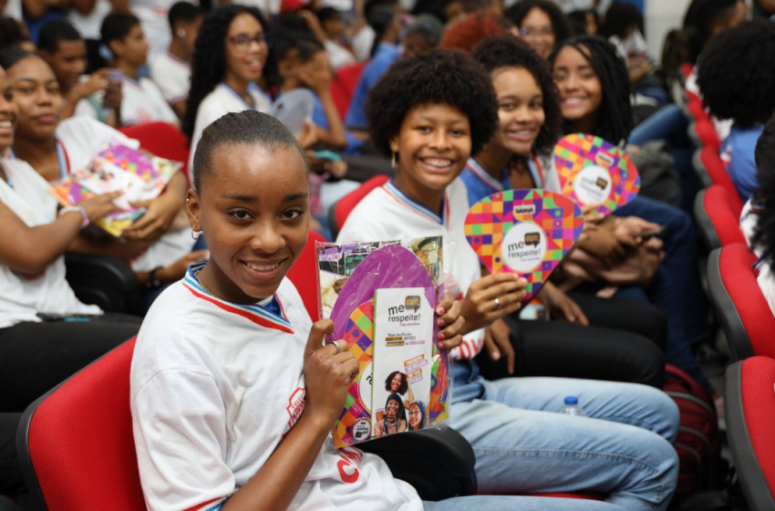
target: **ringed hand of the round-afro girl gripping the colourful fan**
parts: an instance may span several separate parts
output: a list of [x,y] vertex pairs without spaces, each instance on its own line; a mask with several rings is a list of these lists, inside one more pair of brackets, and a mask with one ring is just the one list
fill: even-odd
[[491,325],[496,319],[522,307],[527,280],[515,273],[483,276],[470,285],[463,299],[460,315],[466,318],[462,334]]

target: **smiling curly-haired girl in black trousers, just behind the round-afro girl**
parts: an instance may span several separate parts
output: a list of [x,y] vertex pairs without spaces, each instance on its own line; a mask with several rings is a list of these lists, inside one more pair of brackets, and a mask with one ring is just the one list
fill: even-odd
[[[502,190],[562,192],[552,151],[563,119],[546,61],[511,35],[484,39],[472,56],[490,73],[498,99],[499,126],[460,175],[469,203]],[[500,355],[499,345],[510,350],[511,340],[521,353],[516,368],[521,376],[573,376],[662,387],[665,360],[660,346],[665,343],[666,320],[658,309],[584,293],[574,293],[571,298],[552,282],[544,283],[538,297],[562,323],[520,321],[519,326],[510,328],[498,320],[485,332],[491,357],[493,353]],[[589,327],[590,323],[596,326]],[[510,330],[522,335],[510,336]],[[597,349],[590,350],[593,345]],[[610,363],[609,357],[618,363]],[[506,376],[501,365],[492,364],[485,355],[480,355],[480,365],[486,376]]]

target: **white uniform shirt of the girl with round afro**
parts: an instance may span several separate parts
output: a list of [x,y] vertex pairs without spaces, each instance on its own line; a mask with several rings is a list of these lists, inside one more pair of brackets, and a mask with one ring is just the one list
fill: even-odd
[[[430,211],[423,204],[398,190],[393,180],[374,189],[353,208],[336,236],[336,243],[356,241],[392,241],[425,236],[444,236],[444,256],[451,255],[450,268],[456,289],[452,296],[462,299],[471,284],[480,278],[479,256],[465,236],[465,220],[469,212],[466,185],[460,178],[449,184],[442,204],[443,214]],[[449,242],[454,242],[451,247]],[[471,332],[451,355],[457,359],[472,359],[484,344],[484,329]]]

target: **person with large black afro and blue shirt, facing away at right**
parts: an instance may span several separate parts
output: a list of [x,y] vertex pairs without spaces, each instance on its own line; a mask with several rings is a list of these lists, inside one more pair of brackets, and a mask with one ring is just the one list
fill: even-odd
[[721,159],[740,199],[756,189],[754,150],[775,112],[775,26],[742,23],[715,36],[698,61],[697,85],[708,111],[734,120],[721,143]]

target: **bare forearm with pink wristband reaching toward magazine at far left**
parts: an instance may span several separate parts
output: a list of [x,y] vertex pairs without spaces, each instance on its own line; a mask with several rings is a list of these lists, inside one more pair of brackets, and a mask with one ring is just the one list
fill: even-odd
[[[111,203],[121,193],[106,193],[78,203],[89,221],[116,211]],[[0,263],[14,271],[36,274],[44,271],[78,236],[83,216],[70,211],[61,214],[50,224],[28,227],[16,214],[0,202],[0,238],[13,243],[0,244]]]

